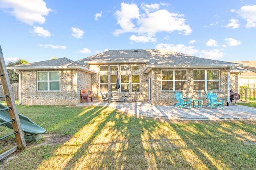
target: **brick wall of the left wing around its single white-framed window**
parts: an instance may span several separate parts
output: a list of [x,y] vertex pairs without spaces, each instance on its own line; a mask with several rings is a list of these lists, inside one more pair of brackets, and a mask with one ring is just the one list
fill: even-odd
[[[37,71],[20,70],[22,76],[22,104],[24,105],[76,105],[81,102],[80,89],[90,89],[90,74],[76,69],[60,71],[60,91],[37,91]],[[79,85],[78,85],[79,84]]]

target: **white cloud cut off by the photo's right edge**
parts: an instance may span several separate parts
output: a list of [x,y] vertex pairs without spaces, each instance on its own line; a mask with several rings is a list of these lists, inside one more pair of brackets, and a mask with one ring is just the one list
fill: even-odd
[[247,21],[246,27],[256,27],[256,5],[242,6],[238,14]]

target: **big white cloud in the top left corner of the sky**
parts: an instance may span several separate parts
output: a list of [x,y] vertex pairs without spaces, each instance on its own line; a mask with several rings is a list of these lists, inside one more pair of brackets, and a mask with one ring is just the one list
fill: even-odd
[[52,11],[43,0],[1,0],[0,8],[29,25],[45,23],[44,16]]

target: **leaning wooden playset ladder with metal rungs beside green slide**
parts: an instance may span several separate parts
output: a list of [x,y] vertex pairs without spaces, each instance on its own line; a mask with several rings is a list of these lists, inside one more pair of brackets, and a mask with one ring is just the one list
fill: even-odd
[[15,152],[16,150],[24,149],[26,147],[26,141],[24,139],[24,135],[23,135],[23,132],[22,132],[22,127],[21,127],[21,124],[20,124],[20,118],[19,118],[19,115],[18,115],[18,112],[17,112],[14,96],[12,94],[12,88],[11,88],[10,80],[9,80],[9,77],[8,77],[6,65],[5,65],[5,62],[4,62],[4,56],[3,56],[1,45],[0,45],[0,80],[2,82],[2,88],[3,88],[3,94],[4,94],[4,96],[0,96],[0,98],[6,98],[6,104],[7,104],[7,108],[6,109],[0,109],[0,111],[8,109],[9,115],[10,115],[10,121],[3,122],[0,125],[12,122],[12,129],[14,131],[13,133],[4,136],[1,139],[4,139],[4,138],[6,138],[10,135],[15,134],[15,138],[16,138],[16,142],[17,142],[17,145],[15,147],[13,147],[13,148],[7,150],[6,152],[0,154],[0,160],[2,160],[6,156]]

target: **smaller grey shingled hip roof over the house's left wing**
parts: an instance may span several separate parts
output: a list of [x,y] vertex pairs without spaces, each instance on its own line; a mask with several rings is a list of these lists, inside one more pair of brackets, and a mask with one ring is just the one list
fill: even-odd
[[20,64],[16,66],[10,66],[8,69],[11,70],[46,70],[46,69],[78,69],[88,73],[96,73],[94,70],[90,70],[83,65],[67,59],[66,57],[61,59],[52,59],[47,61],[40,61],[35,63]]

